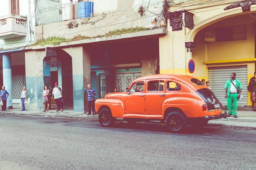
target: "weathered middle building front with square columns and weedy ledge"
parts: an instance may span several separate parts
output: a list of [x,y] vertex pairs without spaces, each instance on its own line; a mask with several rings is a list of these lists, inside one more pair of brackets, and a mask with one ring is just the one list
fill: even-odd
[[29,109],[42,108],[42,87],[54,82],[65,92],[64,105],[84,112],[88,84],[96,98],[104,98],[114,87],[122,92],[134,79],[159,73],[167,1],[62,0],[44,6],[47,1],[36,6],[37,43],[25,49]]

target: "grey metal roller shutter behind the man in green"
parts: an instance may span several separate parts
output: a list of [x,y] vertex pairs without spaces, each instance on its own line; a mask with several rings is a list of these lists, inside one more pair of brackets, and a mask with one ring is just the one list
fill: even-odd
[[241,84],[243,86],[242,94],[244,98],[237,102],[237,105],[247,106],[247,65],[209,68],[210,88],[213,93],[218,97],[218,99],[222,102],[222,105],[226,106],[227,99],[225,99],[224,85],[227,80],[230,79],[231,73],[236,73],[236,78],[241,81]]

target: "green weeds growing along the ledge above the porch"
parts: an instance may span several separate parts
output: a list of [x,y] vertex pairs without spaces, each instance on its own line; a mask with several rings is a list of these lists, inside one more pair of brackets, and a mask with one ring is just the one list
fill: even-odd
[[[144,28],[144,27],[135,27],[135,28],[123,28],[123,29],[116,29],[113,31],[109,31],[103,36],[96,36],[96,37],[111,37],[114,35],[121,35],[121,34],[129,34],[129,33],[134,33],[134,32],[139,32],[139,31],[147,31],[149,28]],[[76,35],[75,37],[69,39],[65,37],[48,37],[47,39],[44,40],[39,40],[38,42],[29,45],[29,46],[38,46],[38,45],[60,45],[63,42],[71,42],[71,41],[78,41],[78,40],[85,40],[89,38],[96,38],[96,37],[87,37],[84,35]]]

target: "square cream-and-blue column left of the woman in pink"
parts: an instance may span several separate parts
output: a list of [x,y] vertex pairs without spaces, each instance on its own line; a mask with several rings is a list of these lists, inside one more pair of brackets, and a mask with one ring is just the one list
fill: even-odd
[[45,50],[26,51],[26,88],[27,88],[27,110],[43,110],[43,89],[44,89],[44,57]]

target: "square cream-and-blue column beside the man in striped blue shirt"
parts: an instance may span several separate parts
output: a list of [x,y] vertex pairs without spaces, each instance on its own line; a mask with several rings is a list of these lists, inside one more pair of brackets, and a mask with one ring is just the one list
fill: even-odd
[[88,111],[87,85],[90,84],[90,49],[84,47],[62,48],[72,57],[74,112]]

